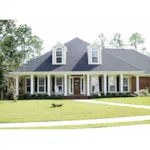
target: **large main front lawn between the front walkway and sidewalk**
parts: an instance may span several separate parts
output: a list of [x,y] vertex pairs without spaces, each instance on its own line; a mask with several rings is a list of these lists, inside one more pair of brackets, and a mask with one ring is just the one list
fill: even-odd
[[[62,103],[64,106],[51,108],[52,103]],[[72,100],[0,101],[0,123],[85,120],[140,115],[150,115],[150,110]]]

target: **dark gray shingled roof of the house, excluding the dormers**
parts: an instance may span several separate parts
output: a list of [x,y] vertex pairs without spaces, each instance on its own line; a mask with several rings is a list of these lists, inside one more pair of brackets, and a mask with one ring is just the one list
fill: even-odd
[[[89,43],[75,38],[64,44],[67,49],[66,65],[52,65],[51,51],[30,61],[17,72],[61,72],[61,71],[146,71],[150,72],[150,58],[133,50],[102,50],[102,64],[88,65]],[[134,60],[136,59],[136,60]],[[145,67],[146,66],[146,67]]]

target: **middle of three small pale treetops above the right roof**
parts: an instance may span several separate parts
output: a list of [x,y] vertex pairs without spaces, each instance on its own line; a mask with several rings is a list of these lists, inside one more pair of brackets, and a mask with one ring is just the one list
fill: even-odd
[[121,34],[120,33],[115,33],[113,36],[113,39],[109,42],[110,45],[112,45],[112,47],[115,48],[123,48],[124,47],[124,43],[123,40],[121,39]]

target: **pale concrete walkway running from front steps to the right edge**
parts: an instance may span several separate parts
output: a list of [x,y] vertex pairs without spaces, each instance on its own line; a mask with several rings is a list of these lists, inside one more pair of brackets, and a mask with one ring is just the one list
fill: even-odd
[[134,107],[134,108],[144,108],[144,109],[150,109],[150,106],[144,106],[144,105],[134,105],[134,104],[122,104],[122,103],[114,103],[114,102],[102,102],[102,101],[96,101],[96,100],[74,100],[77,102],[88,102],[88,103],[96,103],[96,104],[107,104],[107,105],[115,105],[115,106],[127,106],[127,107]]

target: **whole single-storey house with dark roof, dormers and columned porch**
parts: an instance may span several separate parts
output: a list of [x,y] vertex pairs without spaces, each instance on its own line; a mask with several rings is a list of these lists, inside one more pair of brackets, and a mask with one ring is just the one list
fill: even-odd
[[102,49],[79,38],[57,43],[46,54],[11,72],[23,77],[24,93],[63,94],[139,93],[150,87],[150,57],[130,49]]

